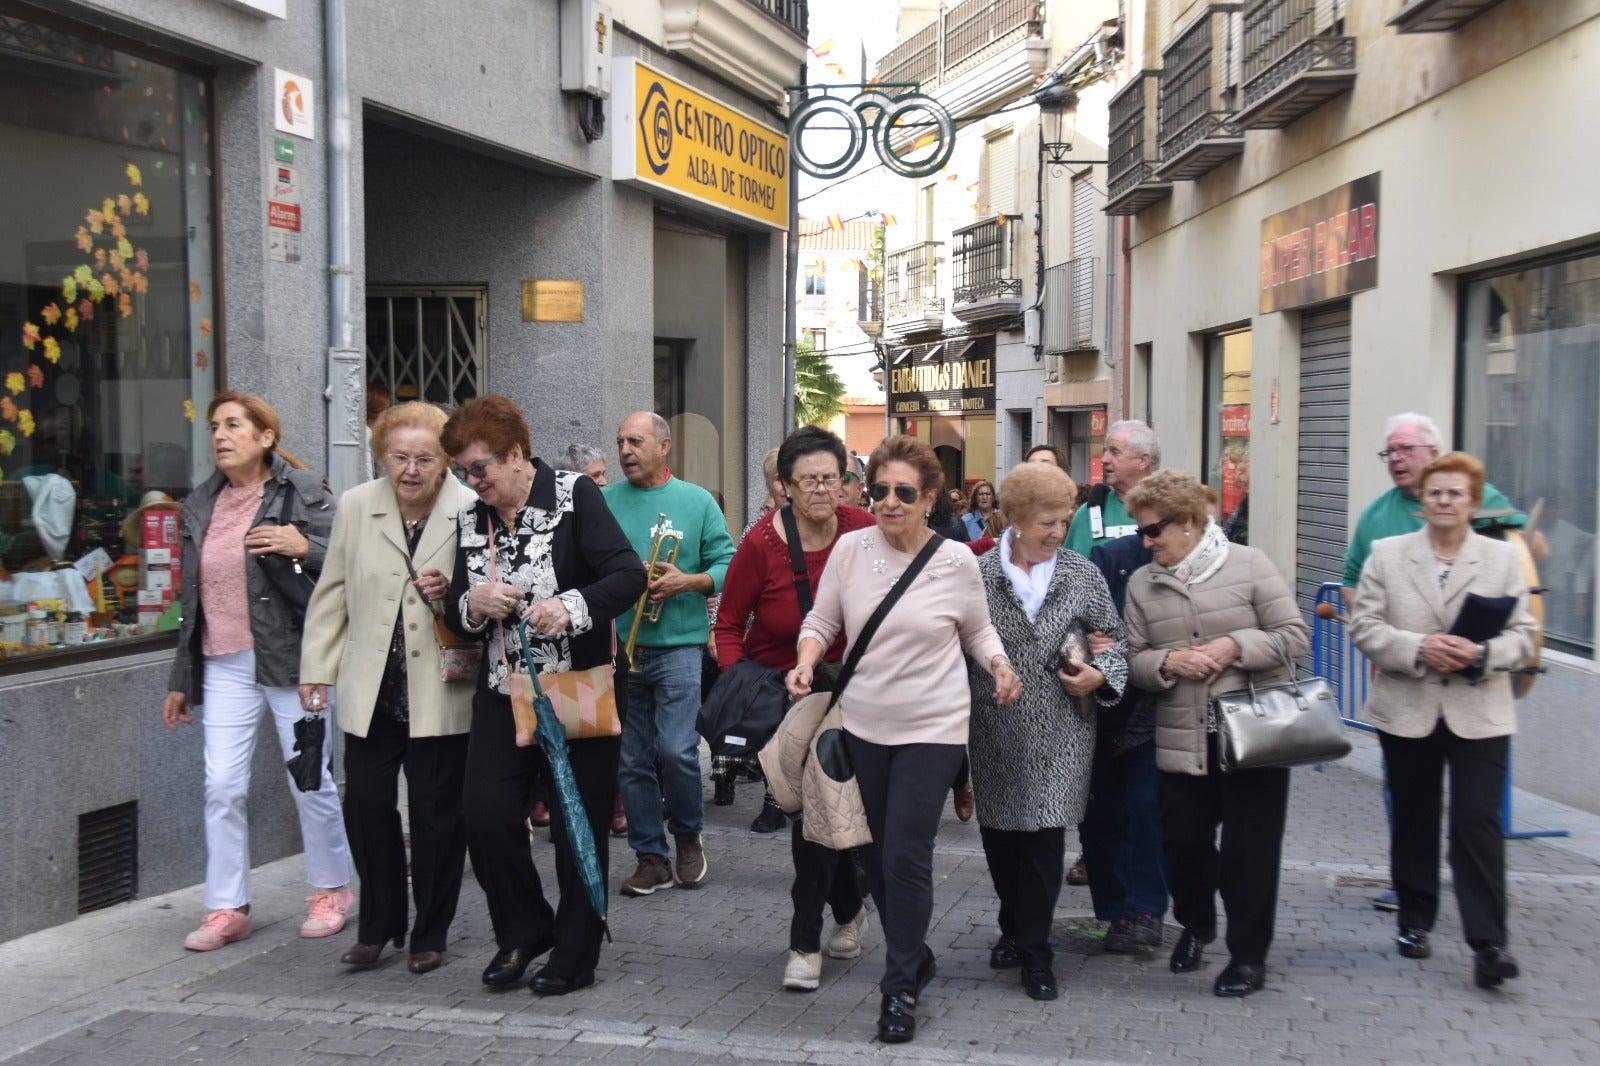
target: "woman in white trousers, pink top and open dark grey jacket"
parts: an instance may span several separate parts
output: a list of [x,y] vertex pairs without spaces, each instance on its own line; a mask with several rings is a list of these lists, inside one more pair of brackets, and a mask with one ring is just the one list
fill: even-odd
[[[184,940],[214,951],[250,936],[250,762],[264,709],[272,711],[285,760],[294,754],[301,711],[299,611],[261,565],[286,555],[322,568],[333,528],[333,496],[322,479],[278,448],[277,411],[261,397],[219,392],[206,408],[216,472],[184,499],[182,627],[162,722],[178,728],[202,707],[205,728],[206,917]],[[330,738],[331,739],[331,738]],[[339,792],[323,746],[322,787],[301,792],[310,914],[301,936],[331,936],[354,904],[350,847]],[[288,779],[288,773],[285,773]]]

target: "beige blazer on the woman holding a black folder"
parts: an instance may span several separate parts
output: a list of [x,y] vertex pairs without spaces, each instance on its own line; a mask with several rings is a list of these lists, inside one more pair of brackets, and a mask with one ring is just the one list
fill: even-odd
[[[1418,656],[1422,637],[1450,632],[1467,592],[1517,597],[1506,629],[1488,642],[1480,683],[1435,674]],[[1462,739],[1515,733],[1507,671],[1528,664],[1536,632],[1522,557],[1510,544],[1469,535],[1440,589],[1427,530],[1373,543],[1350,616],[1350,640],[1378,667],[1366,720],[1392,736],[1427,736],[1440,717]]]

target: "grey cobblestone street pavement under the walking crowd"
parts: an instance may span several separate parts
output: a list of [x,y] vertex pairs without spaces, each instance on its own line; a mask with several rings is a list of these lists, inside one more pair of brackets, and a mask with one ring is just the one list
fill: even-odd
[[[1427,962],[1400,959],[1384,887],[1374,744],[1325,771],[1294,771],[1277,941],[1267,988],[1211,996],[1165,952],[1106,956],[1086,888],[1064,888],[1056,972],[1037,1004],[994,973],[994,903],[976,823],[947,818],[930,943],[939,976],[914,1044],[872,1040],[883,964],[874,925],[854,962],[824,960],[811,994],[779,988],[787,948],[789,845],[747,826],[758,786],[706,808],[710,877],[698,890],[613,895],[614,948],[598,983],[538,999],[488,992],[486,911],[469,879],[446,964],[414,976],[403,952],[373,970],[336,959],[352,932],[299,940],[301,861],[258,871],[262,925],[210,954],[182,949],[200,917],[190,888],[0,944],[0,1061],[46,1063],[1579,1063],[1600,1060],[1600,818],[1518,795],[1523,824],[1566,840],[1509,844],[1512,949],[1525,976],[1472,988],[1453,900]],[[707,789],[709,792],[709,789]],[[538,834],[541,872],[549,844]],[[613,844],[613,885],[632,869]],[[354,930],[354,924],[350,927]],[[1171,943],[1171,932],[1168,935]]]

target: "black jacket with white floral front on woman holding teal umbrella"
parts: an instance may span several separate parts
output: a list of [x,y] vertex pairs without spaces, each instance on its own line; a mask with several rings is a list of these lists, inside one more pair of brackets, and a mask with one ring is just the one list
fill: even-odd
[[504,626],[466,619],[467,592],[490,581],[490,527],[494,530],[494,579],[517,586],[523,605],[558,597],[571,615],[566,632],[536,640],[541,672],[589,669],[611,658],[611,621],[645,591],[645,563],[611,517],[600,488],[582,474],[557,472],[533,461],[533,488],[507,530],[483,501],[461,512],[456,573],[445,597],[445,621],[462,635],[486,642],[478,687],[509,696],[506,664],[520,666],[522,640]]

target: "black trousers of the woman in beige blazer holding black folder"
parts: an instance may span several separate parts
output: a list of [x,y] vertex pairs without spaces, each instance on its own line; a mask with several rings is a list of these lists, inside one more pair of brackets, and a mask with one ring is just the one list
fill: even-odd
[[1462,739],[1440,719],[1429,736],[1378,733],[1389,767],[1394,828],[1389,871],[1400,928],[1434,928],[1438,917],[1438,821],[1450,763],[1450,872],[1467,943],[1506,943],[1506,789],[1509,736]]

